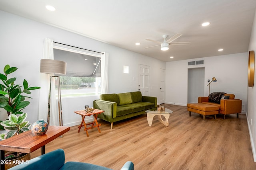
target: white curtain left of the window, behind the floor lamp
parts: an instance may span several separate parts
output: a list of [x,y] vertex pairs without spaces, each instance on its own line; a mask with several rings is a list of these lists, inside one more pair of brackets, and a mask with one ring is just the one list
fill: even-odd
[[[53,57],[53,40],[44,39],[42,59],[54,59]],[[39,119],[47,121],[48,115],[48,95],[50,86],[50,74],[40,73],[41,75],[41,89],[39,99]],[[58,107],[55,92],[55,78],[51,82],[51,101],[50,101],[50,125],[59,125],[58,121]]]

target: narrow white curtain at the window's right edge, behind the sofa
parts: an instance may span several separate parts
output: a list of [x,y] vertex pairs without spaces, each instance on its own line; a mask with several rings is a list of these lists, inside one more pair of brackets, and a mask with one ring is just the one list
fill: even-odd
[[101,94],[108,94],[108,53],[101,57]]

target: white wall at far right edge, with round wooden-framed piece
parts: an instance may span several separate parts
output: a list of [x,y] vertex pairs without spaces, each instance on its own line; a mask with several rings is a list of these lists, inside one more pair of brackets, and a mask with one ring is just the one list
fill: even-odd
[[[254,16],[254,23],[252,26],[252,33],[248,51],[256,51],[256,16]],[[248,62],[248,56],[247,56]],[[255,64],[254,64],[255,65]],[[254,69],[255,70],[255,69]],[[247,83],[247,123],[250,133],[252,153],[254,162],[256,162],[256,73],[254,73],[254,87],[248,87]]]

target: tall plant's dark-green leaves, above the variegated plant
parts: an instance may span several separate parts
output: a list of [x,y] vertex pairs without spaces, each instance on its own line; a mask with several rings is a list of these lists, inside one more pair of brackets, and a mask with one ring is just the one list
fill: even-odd
[[[31,94],[30,90],[40,88],[28,87],[28,82],[24,79],[22,90],[22,86],[15,84],[16,77],[8,78],[8,75],[15,72],[17,69],[17,67],[6,65],[4,66],[4,74],[0,73],[0,80],[3,82],[3,84],[0,84],[0,108],[4,108],[8,116],[11,114],[22,114],[22,110],[30,104],[30,102],[25,101],[25,99],[31,98],[23,96],[23,94]],[[0,126],[0,130],[4,130],[4,128]]]

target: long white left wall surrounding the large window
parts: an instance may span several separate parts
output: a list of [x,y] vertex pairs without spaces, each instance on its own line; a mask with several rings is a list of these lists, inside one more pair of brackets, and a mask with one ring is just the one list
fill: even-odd
[[[51,38],[59,43],[93,51],[109,53],[109,93],[137,91],[138,64],[150,66],[151,86],[159,87],[158,74],[160,68],[165,69],[166,66],[163,61],[3,11],[0,11],[0,23],[0,72],[2,73],[6,64],[16,66],[18,71],[11,75],[17,78],[25,78],[30,86],[40,86],[41,84],[40,59],[42,58],[44,38]],[[123,73],[124,65],[129,66],[129,74]],[[18,83],[22,84],[22,78],[18,80]],[[30,123],[38,119],[39,94],[40,90],[32,91],[31,97],[33,99],[30,100],[30,105],[24,110],[28,113],[27,119]],[[158,94],[159,88],[150,90],[151,96],[158,97]],[[63,98],[63,124],[79,124],[81,118],[74,111],[83,109],[85,104],[92,106],[92,101],[98,98],[98,96]],[[48,101],[47,98],[45,100]],[[0,115],[4,115],[4,109],[0,110]],[[0,117],[0,119],[3,118]]]

